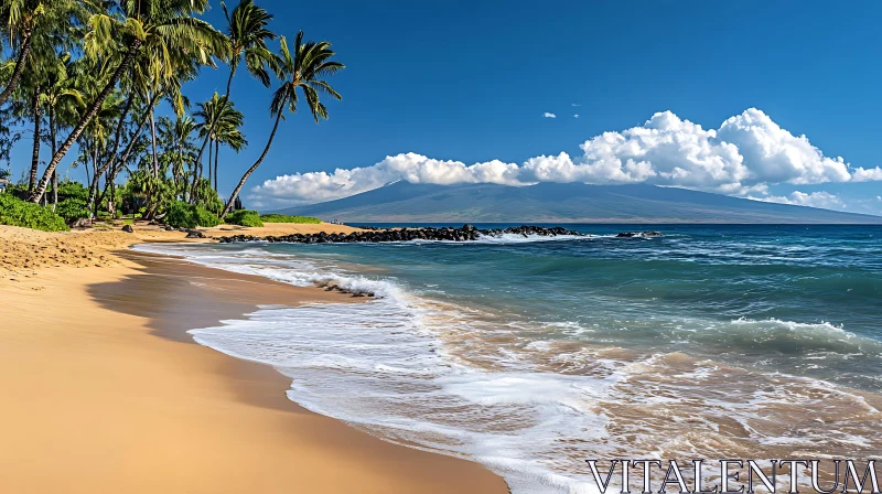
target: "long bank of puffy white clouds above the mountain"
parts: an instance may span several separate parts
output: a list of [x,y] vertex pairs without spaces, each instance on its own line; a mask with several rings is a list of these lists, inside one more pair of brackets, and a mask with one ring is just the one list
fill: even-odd
[[649,183],[772,202],[838,206],[841,203],[826,192],[795,192],[783,197],[770,195],[768,186],[882,181],[879,167],[852,168],[840,157],[827,157],[808,138],[794,136],[755,108],[727,119],[719,129],[703,129],[662,111],[642,126],[604,132],[580,148],[582,154],[576,158],[561,152],[520,164],[493,160],[470,165],[402,153],[364,168],[281,175],[254,187],[249,200],[258,207],[312,204],[404,180],[517,186],[539,182]]

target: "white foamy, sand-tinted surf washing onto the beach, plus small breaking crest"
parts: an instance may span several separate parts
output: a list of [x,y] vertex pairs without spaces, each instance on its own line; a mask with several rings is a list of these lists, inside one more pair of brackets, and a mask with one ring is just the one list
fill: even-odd
[[[820,379],[686,352],[592,346],[588,336],[601,331],[596,326],[491,316],[330,258],[265,256],[271,253],[254,246],[149,248],[292,284],[332,281],[381,296],[365,303],[263,307],[191,334],[276,367],[292,379],[289,398],[306,409],[390,442],[478,461],[516,494],[594,493],[587,458],[875,451],[867,438],[882,419],[879,404]],[[846,352],[870,344],[830,323],[680,323],[690,330],[674,332],[678,341],[713,342],[724,352],[795,340],[809,342],[804,346],[814,355],[831,341],[851,345],[837,347]]]

